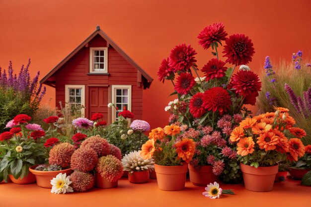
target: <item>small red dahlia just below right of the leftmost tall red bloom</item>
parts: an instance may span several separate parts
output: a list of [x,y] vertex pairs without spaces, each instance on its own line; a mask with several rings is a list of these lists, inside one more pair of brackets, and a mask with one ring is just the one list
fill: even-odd
[[194,77],[187,72],[180,73],[179,77],[177,77],[177,81],[174,89],[179,94],[187,94],[189,90],[195,85]]

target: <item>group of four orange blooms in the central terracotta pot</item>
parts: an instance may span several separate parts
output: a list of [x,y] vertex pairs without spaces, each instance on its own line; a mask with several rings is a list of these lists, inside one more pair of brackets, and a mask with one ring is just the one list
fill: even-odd
[[[176,136],[180,134],[180,127],[177,125],[168,125],[164,129],[158,127],[153,129],[149,133],[149,140],[142,145],[141,155],[144,159],[150,159],[156,150],[161,151],[159,146],[156,146],[156,141],[165,141],[165,136]],[[190,162],[195,152],[195,142],[193,139],[182,138],[173,145],[176,148],[178,159],[182,159],[185,162]]]

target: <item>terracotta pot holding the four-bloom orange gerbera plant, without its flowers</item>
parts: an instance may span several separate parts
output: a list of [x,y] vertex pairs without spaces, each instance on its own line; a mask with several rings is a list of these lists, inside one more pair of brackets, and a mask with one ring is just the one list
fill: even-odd
[[162,166],[155,164],[156,180],[160,190],[180,191],[184,189],[188,164],[179,166]]

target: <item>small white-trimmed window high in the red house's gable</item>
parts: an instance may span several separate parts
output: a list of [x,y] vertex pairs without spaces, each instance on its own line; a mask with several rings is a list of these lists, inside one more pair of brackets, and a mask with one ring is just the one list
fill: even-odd
[[108,48],[90,48],[89,50],[89,72],[108,72]]

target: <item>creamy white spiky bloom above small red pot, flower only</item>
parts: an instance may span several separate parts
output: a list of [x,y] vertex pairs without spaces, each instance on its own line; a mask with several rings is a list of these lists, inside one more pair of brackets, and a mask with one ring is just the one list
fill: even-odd
[[129,154],[124,155],[122,158],[123,171],[129,171],[133,173],[134,171],[144,171],[154,169],[154,159],[144,159],[141,151],[132,151]]

